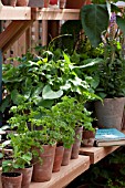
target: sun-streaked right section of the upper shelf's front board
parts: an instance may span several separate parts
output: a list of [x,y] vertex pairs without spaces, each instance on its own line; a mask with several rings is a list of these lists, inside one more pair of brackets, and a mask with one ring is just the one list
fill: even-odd
[[80,20],[79,9],[32,8],[34,20]]

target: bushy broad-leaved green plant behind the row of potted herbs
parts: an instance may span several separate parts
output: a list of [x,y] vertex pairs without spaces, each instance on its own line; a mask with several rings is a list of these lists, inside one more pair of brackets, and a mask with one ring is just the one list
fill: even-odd
[[[72,69],[70,56],[60,49],[39,50],[40,56],[31,53],[17,58],[21,64],[3,64],[2,85],[8,95],[0,111],[32,101],[34,106],[51,107],[63,95],[84,96],[90,85]],[[91,95],[91,94],[90,94]]]

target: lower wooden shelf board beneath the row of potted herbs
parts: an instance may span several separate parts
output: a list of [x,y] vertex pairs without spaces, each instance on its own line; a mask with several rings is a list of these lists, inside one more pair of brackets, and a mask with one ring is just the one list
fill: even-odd
[[59,173],[53,173],[52,179],[45,182],[31,182],[30,188],[61,188],[90,168],[90,157],[80,156],[71,159],[67,166],[62,166]]

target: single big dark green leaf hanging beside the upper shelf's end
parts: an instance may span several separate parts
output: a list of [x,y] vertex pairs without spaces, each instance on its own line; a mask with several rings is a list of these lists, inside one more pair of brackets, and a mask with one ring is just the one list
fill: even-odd
[[108,20],[106,4],[87,4],[81,9],[83,30],[94,48],[101,43],[101,33],[107,29]]

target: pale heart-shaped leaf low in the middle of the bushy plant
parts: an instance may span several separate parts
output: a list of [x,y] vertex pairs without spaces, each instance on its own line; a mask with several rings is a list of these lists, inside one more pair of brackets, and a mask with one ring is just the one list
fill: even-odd
[[54,98],[59,98],[63,95],[63,91],[60,90],[58,92],[54,92],[51,90],[50,85],[45,85],[42,92],[42,97],[44,100],[54,100]]

